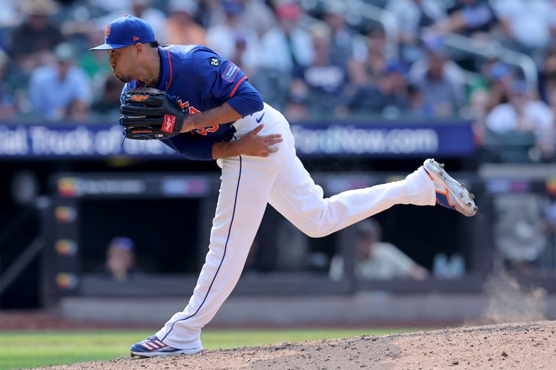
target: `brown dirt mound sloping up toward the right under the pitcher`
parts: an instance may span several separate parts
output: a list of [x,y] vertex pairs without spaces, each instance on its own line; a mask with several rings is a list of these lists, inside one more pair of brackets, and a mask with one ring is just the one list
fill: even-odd
[[554,369],[555,330],[554,321],[448,328],[51,369]]

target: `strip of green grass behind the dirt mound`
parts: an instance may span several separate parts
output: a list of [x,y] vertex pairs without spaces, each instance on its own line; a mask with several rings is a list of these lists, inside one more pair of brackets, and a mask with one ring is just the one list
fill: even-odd
[[[261,346],[311,339],[381,335],[417,329],[205,330],[206,349]],[[129,346],[152,332],[144,330],[0,332],[0,370],[111,360],[129,355]]]

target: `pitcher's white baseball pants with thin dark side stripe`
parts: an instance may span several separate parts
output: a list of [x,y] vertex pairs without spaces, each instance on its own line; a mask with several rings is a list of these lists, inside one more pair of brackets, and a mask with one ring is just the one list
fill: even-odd
[[329,235],[395,204],[436,203],[434,184],[423,167],[404,180],[325,199],[297,158],[288,121],[280,112],[265,104],[260,112],[239,119],[236,138],[258,126],[256,119],[265,125],[260,135],[280,133],[284,141],[266,158],[218,160],[222,184],[206,262],[185,310],[156,333],[168,346],[202,346],[201,330],[236,286],[267,203],[310,237]]

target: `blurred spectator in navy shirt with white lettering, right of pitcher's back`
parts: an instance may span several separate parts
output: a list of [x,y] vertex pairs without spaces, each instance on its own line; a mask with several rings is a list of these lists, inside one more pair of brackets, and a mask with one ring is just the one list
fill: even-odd
[[313,61],[295,74],[290,91],[306,99],[312,116],[329,116],[345,105],[348,82],[345,65],[332,58],[332,38],[325,24],[313,24]]

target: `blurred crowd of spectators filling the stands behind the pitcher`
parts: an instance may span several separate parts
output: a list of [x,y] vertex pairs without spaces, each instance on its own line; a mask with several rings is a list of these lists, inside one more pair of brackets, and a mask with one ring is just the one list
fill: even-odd
[[[361,14],[354,9],[361,3]],[[321,117],[472,119],[479,144],[533,140],[555,156],[556,3],[552,0],[0,0],[0,117],[112,121],[122,88],[104,29],[124,14],[161,44],[206,44],[245,70],[292,121]],[[359,9],[359,8],[357,8]],[[380,13],[386,11],[385,13]],[[392,38],[374,18],[394,19]],[[512,61],[446,42],[496,45]],[[477,49],[475,45],[475,49]],[[473,48],[471,48],[473,49]],[[517,55],[517,54],[516,54]],[[518,59],[516,57],[516,59]],[[517,62],[517,60],[516,60]],[[520,136],[521,135],[521,136]],[[525,140],[525,139],[524,139]],[[502,140],[503,141],[503,140]]]

